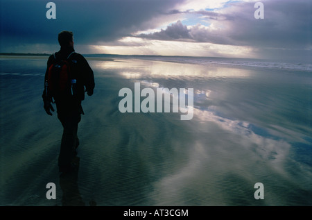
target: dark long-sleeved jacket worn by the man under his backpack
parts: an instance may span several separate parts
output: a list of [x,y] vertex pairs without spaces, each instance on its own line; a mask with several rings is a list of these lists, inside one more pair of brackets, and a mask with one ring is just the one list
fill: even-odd
[[[60,51],[54,53],[54,55],[52,54],[49,57],[44,82],[46,81],[46,78],[48,76],[49,67],[55,62],[55,58],[57,60],[66,60],[69,54],[73,51],[74,50],[72,48],[61,47]],[[71,62],[71,72],[75,75],[75,78],[77,80],[77,99],[78,101],[83,101],[85,99],[85,91],[94,90],[95,83],[93,71],[89,66],[87,60],[79,53],[72,53],[69,57],[69,60],[73,61]],[[51,97],[46,96],[46,88],[44,88],[42,98],[51,100]],[[55,100],[56,103],[58,103],[58,101],[60,100]]]

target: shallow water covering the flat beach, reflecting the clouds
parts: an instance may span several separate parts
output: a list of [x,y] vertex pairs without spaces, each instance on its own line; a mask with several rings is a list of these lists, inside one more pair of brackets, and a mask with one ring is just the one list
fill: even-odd
[[[309,71],[89,60],[78,176],[60,177],[62,126],[42,108],[46,58],[0,60],[0,205],[311,205]],[[121,113],[119,90],[193,88],[193,119]],[[46,183],[57,199],[46,199]],[[254,198],[263,183],[264,199]],[[71,199],[70,199],[71,198]],[[69,201],[68,201],[69,200]]]

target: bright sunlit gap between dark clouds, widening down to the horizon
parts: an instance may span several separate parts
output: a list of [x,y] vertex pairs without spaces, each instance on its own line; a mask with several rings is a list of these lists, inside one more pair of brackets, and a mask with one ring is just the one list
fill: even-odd
[[[184,1],[177,4],[168,15],[162,15],[150,21],[153,24],[160,24],[158,28],[142,29],[132,33],[133,37],[122,37],[109,44],[103,42],[103,46],[92,46],[92,51],[123,55],[258,58],[257,49],[252,49],[252,46],[228,44],[229,40],[226,35],[221,34],[225,32],[219,23],[215,22],[207,26],[209,19],[205,17],[205,12],[209,12],[209,9],[224,8],[230,2],[223,0]],[[191,17],[189,17],[190,12],[193,13]],[[183,24],[192,20],[198,23],[193,26]]]

